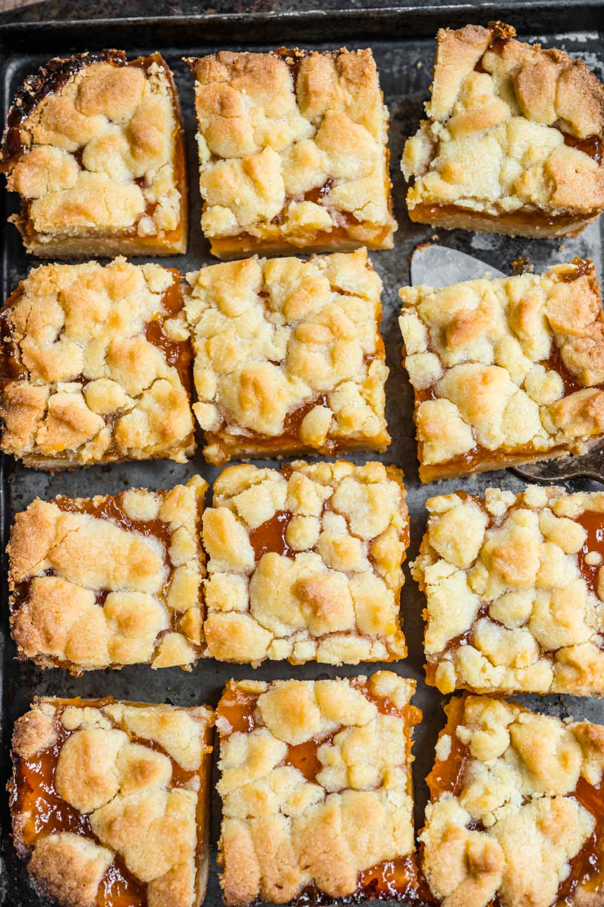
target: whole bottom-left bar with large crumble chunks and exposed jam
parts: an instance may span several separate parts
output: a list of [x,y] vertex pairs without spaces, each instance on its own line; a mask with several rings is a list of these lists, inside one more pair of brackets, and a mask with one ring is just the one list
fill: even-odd
[[14,725],[13,840],[61,907],[198,907],[215,713],[36,697]]

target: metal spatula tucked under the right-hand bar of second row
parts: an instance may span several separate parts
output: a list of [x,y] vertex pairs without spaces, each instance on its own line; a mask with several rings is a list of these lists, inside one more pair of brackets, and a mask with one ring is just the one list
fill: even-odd
[[[427,287],[446,287],[462,280],[477,278],[503,278],[506,275],[486,262],[465,252],[446,249],[445,246],[418,246],[411,256],[411,283]],[[582,456],[567,456],[561,460],[527,463],[515,466],[514,472],[531,482],[560,482],[585,476],[604,483],[604,442]]]

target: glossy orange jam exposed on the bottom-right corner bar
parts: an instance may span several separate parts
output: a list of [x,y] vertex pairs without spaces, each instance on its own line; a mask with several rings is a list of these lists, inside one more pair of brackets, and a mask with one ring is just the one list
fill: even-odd
[[[466,694],[461,697],[453,697],[445,707],[446,726],[438,735],[438,739],[440,740],[440,737],[445,734],[450,736],[451,750],[446,759],[436,759],[432,771],[427,775],[426,782],[430,791],[431,803],[436,803],[443,794],[458,796],[463,789],[465,772],[471,754],[468,747],[455,734],[455,729],[464,723],[466,698]],[[593,815],[596,823],[592,834],[583,844],[580,852],[569,861],[570,873],[559,885],[556,900],[551,907],[573,907],[578,889],[591,895],[601,892],[602,903],[604,903],[604,787],[601,783],[590,785],[580,777],[570,796],[578,800]],[[471,822],[467,827],[474,831],[484,832],[483,825],[479,823]],[[420,847],[420,859],[423,862],[422,849],[423,845]],[[436,905],[442,903],[431,894],[423,873],[421,876],[424,900]],[[486,907],[503,907],[503,903],[495,895]]]

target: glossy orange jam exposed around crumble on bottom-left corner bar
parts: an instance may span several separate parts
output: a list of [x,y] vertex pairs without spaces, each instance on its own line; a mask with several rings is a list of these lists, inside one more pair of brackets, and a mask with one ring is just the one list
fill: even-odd
[[[61,716],[65,708],[69,706],[102,708],[113,701],[112,697],[88,700],[78,697],[58,700],[54,715],[57,738],[53,746],[42,750],[31,759],[24,759],[22,756],[13,754],[13,775],[8,783],[10,812],[14,829],[19,829],[15,834],[15,844],[19,855],[24,859],[32,853],[35,844],[43,837],[60,832],[80,834],[82,837],[91,838],[95,844],[106,846],[92,832],[88,815],[79,813],[57,793],[54,786],[54,775],[62,746],[67,738],[75,733],[75,730],[70,731],[62,725]],[[129,703],[129,706],[136,705],[136,703]],[[191,782],[197,784],[197,778],[200,778],[202,781],[200,790],[205,791],[205,761],[202,760],[202,767],[199,770],[187,772],[157,741],[136,736],[127,727],[113,722],[110,716],[104,712],[103,716],[111,721],[113,727],[124,731],[129,736],[131,743],[147,746],[149,749],[168,756],[172,765],[170,788],[190,787]],[[23,816],[27,816],[25,822],[23,822]],[[199,819],[197,821],[201,825]],[[198,827],[198,840],[201,840],[203,834],[205,834],[204,828]],[[119,853],[114,853],[113,861],[101,879],[95,907],[146,907],[146,904],[147,884],[140,882],[129,871]]]

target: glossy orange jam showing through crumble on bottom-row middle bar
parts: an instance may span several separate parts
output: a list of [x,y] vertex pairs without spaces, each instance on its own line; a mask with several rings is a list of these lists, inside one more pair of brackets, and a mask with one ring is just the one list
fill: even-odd
[[[374,703],[383,715],[393,715],[404,722],[407,738],[407,792],[412,796],[411,775],[408,769],[412,746],[411,733],[413,727],[421,721],[420,710],[411,705],[398,709],[388,697],[373,696],[367,683],[362,683],[357,678],[350,680],[350,683],[360,689],[363,696],[369,699],[369,702]],[[251,734],[254,727],[259,726],[259,716],[256,712],[256,701],[259,696],[260,693],[250,692],[235,681],[230,681],[227,684],[217,707],[217,716],[219,719],[223,719],[223,722],[218,722],[218,727],[222,725],[220,730],[221,741],[225,741],[235,732]],[[224,721],[227,721],[230,725],[230,731],[222,729],[225,727]],[[288,744],[283,765],[297,768],[307,781],[314,782],[323,767],[317,756],[317,750],[319,746],[329,743],[340,730],[342,730],[342,727],[336,728],[327,736],[322,736],[321,739],[312,737],[310,740],[305,740],[295,746]],[[359,873],[356,890],[338,899],[338,903],[350,904],[370,899],[402,900],[410,905],[415,905],[420,903],[417,893],[418,886],[415,855],[410,853],[394,860],[378,863]],[[321,892],[319,888],[311,884],[304,888],[291,903],[295,904],[296,907],[306,907],[306,905],[310,907],[310,905],[331,904],[332,902],[333,899],[328,894]]]

